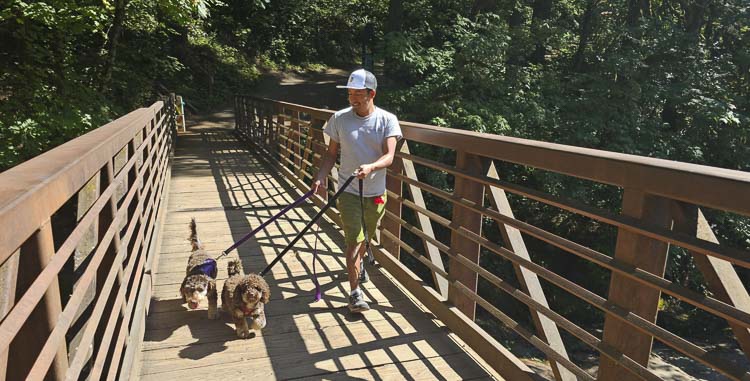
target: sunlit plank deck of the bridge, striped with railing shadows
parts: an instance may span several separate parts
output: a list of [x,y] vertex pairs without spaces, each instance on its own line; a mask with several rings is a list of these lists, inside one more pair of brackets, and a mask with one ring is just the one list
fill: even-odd
[[[349,314],[343,236],[327,222],[318,236],[322,301],[312,303],[315,234],[310,232],[267,278],[272,298],[262,333],[238,339],[226,314],[209,321],[205,305],[188,310],[178,289],[189,255],[190,218],[196,218],[206,248],[218,255],[300,195],[234,138],[231,114],[219,117],[177,140],[137,370],[141,379],[500,378],[385,271],[371,271],[372,280],[364,286],[372,310],[362,317]],[[312,204],[290,211],[230,257],[239,255],[246,271],[262,270],[315,211]],[[226,264],[227,258],[219,260],[219,287]]]

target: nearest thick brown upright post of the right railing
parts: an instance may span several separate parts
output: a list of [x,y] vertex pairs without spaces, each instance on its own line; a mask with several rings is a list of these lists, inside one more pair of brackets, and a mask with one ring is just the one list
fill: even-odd
[[[669,228],[670,200],[651,195],[639,189],[625,188],[622,200],[622,214],[637,218],[644,224]],[[654,275],[663,277],[669,246],[661,241],[644,237],[626,229],[619,229],[614,258],[622,263],[635,266]],[[609,283],[608,301],[632,313],[656,322],[661,292],[638,283],[619,273],[613,273]],[[633,328],[607,315],[604,319],[602,341],[621,351],[643,366],[648,366],[653,337],[633,330]],[[637,380],[634,374],[620,367],[617,362],[602,356],[599,366],[599,380]]]

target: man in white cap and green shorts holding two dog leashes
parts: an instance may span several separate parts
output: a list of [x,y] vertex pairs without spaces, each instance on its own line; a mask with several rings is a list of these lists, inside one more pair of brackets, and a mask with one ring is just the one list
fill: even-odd
[[[395,115],[375,107],[374,99],[378,87],[375,76],[367,70],[352,72],[344,86],[351,107],[336,112],[323,132],[331,140],[323,155],[320,171],[313,182],[313,189],[323,198],[328,197],[327,177],[336,163],[341,147],[339,184],[344,184],[352,174],[364,180],[365,225],[368,237],[375,234],[375,227],[385,213],[385,169],[393,162],[396,142],[401,138],[401,127]],[[361,313],[370,309],[364,300],[359,285],[367,281],[360,264],[365,254],[365,235],[362,228],[362,205],[359,200],[359,182],[353,181],[338,199],[346,240],[346,268],[349,275],[349,310]]]

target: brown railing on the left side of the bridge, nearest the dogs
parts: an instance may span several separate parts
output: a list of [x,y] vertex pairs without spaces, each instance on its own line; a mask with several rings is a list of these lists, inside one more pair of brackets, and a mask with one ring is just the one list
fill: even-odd
[[0,173],[0,379],[127,379],[175,131],[156,102]]

